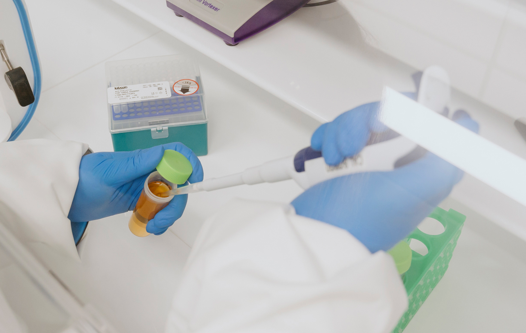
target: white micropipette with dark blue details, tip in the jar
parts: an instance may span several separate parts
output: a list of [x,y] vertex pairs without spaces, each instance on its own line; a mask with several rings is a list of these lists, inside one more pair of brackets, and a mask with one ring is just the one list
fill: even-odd
[[[446,70],[439,66],[426,68],[420,78],[417,102],[437,113],[442,113],[449,99],[450,84]],[[248,168],[241,173],[210,178],[174,188],[161,195],[171,196],[213,191],[243,184],[275,183],[287,179],[294,179],[302,188],[307,189],[321,181],[340,176],[393,170],[395,165],[398,167],[401,164],[412,162],[411,158],[405,158],[403,162],[401,158],[416,148],[417,145],[411,140],[399,136],[392,130],[387,130],[384,133],[376,134],[376,137],[372,135],[369,139],[369,145],[363,148],[359,154],[346,158],[337,166],[325,164],[321,152],[307,147],[301,149],[294,156],[272,160],[260,166]],[[418,157],[420,156],[412,156],[414,159]]]

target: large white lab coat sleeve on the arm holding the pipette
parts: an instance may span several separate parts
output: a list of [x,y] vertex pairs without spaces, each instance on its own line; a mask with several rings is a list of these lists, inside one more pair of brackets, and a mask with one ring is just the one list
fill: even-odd
[[385,252],[290,205],[236,199],[200,230],[166,333],[388,333],[406,308]]

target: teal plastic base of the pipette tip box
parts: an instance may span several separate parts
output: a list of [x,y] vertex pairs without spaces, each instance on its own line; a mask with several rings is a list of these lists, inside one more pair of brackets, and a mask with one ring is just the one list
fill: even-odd
[[208,124],[185,126],[169,126],[168,136],[154,139],[151,129],[134,130],[131,132],[112,133],[115,152],[128,152],[135,149],[145,149],[172,142],[180,142],[190,148],[197,156],[208,154]]

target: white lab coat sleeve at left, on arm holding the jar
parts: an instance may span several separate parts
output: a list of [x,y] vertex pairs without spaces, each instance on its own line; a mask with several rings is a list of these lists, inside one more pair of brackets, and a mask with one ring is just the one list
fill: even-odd
[[87,149],[47,139],[0,143],[0,201],[20,217],[6,227],[29,248],[43,243],[80,260],[67,216]]

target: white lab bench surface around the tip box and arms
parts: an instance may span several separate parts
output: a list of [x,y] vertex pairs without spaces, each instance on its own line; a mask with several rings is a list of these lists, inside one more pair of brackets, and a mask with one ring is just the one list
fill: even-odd
[[[298,12],[228,47],[175,17],[163,0],[116,2],[155,26],[109,0],[26,0],[41,57],[43,93],[20,139],[76,140],[95,151],[112,150],[104,63],[116,59],[174,53],[198,59],[209,113],[209,154],[201,157],[205,177],[294,154],[309,145],[321,120],[378,99],[383,85],[414,90],[414,69],[365,44],[355,47],[358,36],[341,31],[352,28],[348,13]],[[330,93],[322,78],[332,79]],[[452,104],[479,120],[483,136],[526,157],[526,143],[513,132],[511,118],[458,93]],[[194,194],[183,217],[158,237],[133,236],[126,214],[92,221],[80,254],[97,288],[85,300],[120,332],[162,332],[204,220],[233,197],[289,202],[299,193],[293,181],[284,181]],[[497,203],[501,209],[488,207]],[[526,235],[517,221],[522,222],[526,210],[470,177],[441,206],[468,218],[447,274],[406,332],[522,331],[526,243],[507,230]]]

